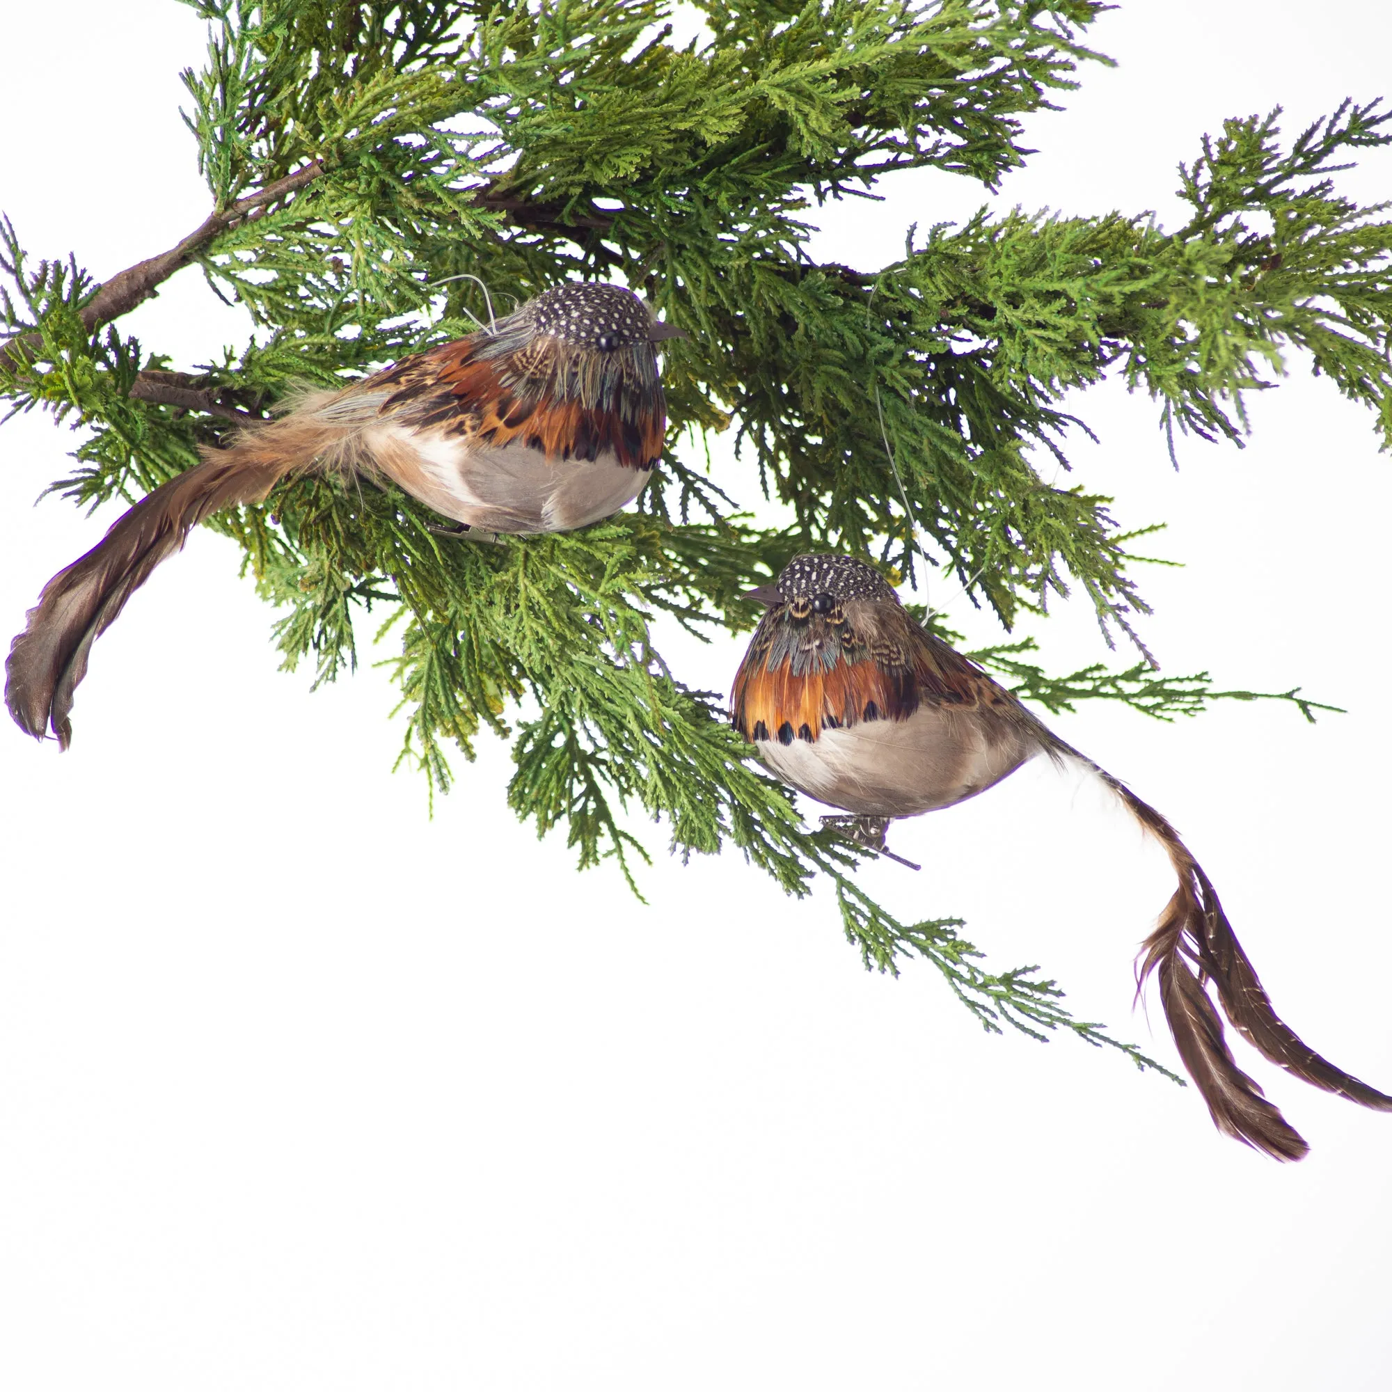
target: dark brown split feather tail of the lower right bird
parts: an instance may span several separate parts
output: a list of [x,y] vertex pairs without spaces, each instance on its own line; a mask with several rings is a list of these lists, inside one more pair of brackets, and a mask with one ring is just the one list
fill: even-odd
[[1263,1057],[1328,1093],[1377,1111],[1392,1111],[1392,1097],[1335,1068],[1276,1015],[1228,922],[1212,881],[1169,821],[1077,750],[1065,746],[1065,753],[1080,760],[1116,793],[1141,827],[1165,848],[1175,869],[1179,884],[1155,930],[1141,945],[1136,988],[1139,992],[1147,977],[1157,974],[1161,1004],[1179,1057],[1208,1104],[1214,1125],[1276,1160],[1300,1160],[1308,1150],[1279,1109],[1237,1068],[1224,1038],[1222,1020],[1204,990],[1204,983],[1210,980],[1218,990],[1224,1013]]

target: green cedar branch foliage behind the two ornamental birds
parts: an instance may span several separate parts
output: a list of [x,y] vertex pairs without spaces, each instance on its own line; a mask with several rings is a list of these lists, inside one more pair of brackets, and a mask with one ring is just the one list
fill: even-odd
[[[322,477],[209,523],[280,607],[285,665],[351,668],[372,611],[400,644],[401,757],[432,789],[451,781],[445,746],[472,757],[486,727],[514,741],[509,806],[564,827],[582,866],[614,857],[635,884],[646,852],[622,809],[640,809],[682,856],[732,844],[799,895],[828,877],[867,965],[927,958],[988,1029],[1115,1043],[1034,969],[984,972],[956,920],[905,924],[867,898],[867,852],[802,824],[721,696],[668,670],[653,624],[748,629],[742,592],[799,550],[870,553],[915,579],[917,535],[1006,626],[1080,592],[1139,646],[1134,537],[1107,498],[1040,472],[1080,425],[1065,394],[1119,373],[1171,434],[1237,440],[1243,394],[1300,348],[1392,434],[1392,226],[1329,178],[1388,141],[1386,114],[1346,104],[1289,148],[1275,116],[1225,122],[1183,168],[1193,212],[1173,231],[983,212],[862,274],[810,259],[810,203],[924,166],[995,189],[1027,153],[1020,118],[1107,61],[1082,42],[1104,6],[697,0],[704,36],[677,43],[660,0],[185,3],[209,22],[207,63],[184,81],[213,216],[156,280],[196,262],[258,330],[175,369],[113,323],[153,284],[122,299],[72,258],[35,263],[4,223],[18,337],[0,394],[86,426],[54,487],[135,498],[299,384],[472,333],[483,285],[500,305],[575,277],[639,290],[690,341],[667,347],[670,448],[635,509],[465,544],[391,487]],[[700,437],[727,427],[789,526],[759,526],[739,511],[754,500],[707,476]],[[1052,711],[1109,699],[1169,718],[1257,697],[1146,663],[1050,678],[1027,647],[976,656]]]

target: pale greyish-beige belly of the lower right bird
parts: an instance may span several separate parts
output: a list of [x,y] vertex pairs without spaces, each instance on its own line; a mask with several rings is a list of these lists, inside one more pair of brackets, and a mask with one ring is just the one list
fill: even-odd
[[756,739],[768,770],[845,812],[915,817],[984,792],[1038,752],[979,710],[924,703],[906,720],[863,720],[816,739]]

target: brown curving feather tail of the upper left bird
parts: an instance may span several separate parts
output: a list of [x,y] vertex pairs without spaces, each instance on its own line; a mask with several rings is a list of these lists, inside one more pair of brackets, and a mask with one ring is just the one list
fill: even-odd
[[67,749],[72,693],[86,675],[88,653],[160,561],[203,518],[259,503],[277,479],[309,464],[341,433],[298,412],[248,432],[142,498],[86,555],[54,575],[6,660],[4,699],[19,728],[35,739],[52,728]]

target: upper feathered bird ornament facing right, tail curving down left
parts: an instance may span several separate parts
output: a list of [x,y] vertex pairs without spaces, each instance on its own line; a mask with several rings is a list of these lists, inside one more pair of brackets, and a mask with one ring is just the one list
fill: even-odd
[[88,651],[203,518],[260,503],[288,473],[387,477],[459,530],[568,532],[632,503],[663,450],[657,344],[686,337],[619,285],[568,284],[491,329],[302,397],[142,498],[60,571],[6,663],[22,729],[71,739]]

